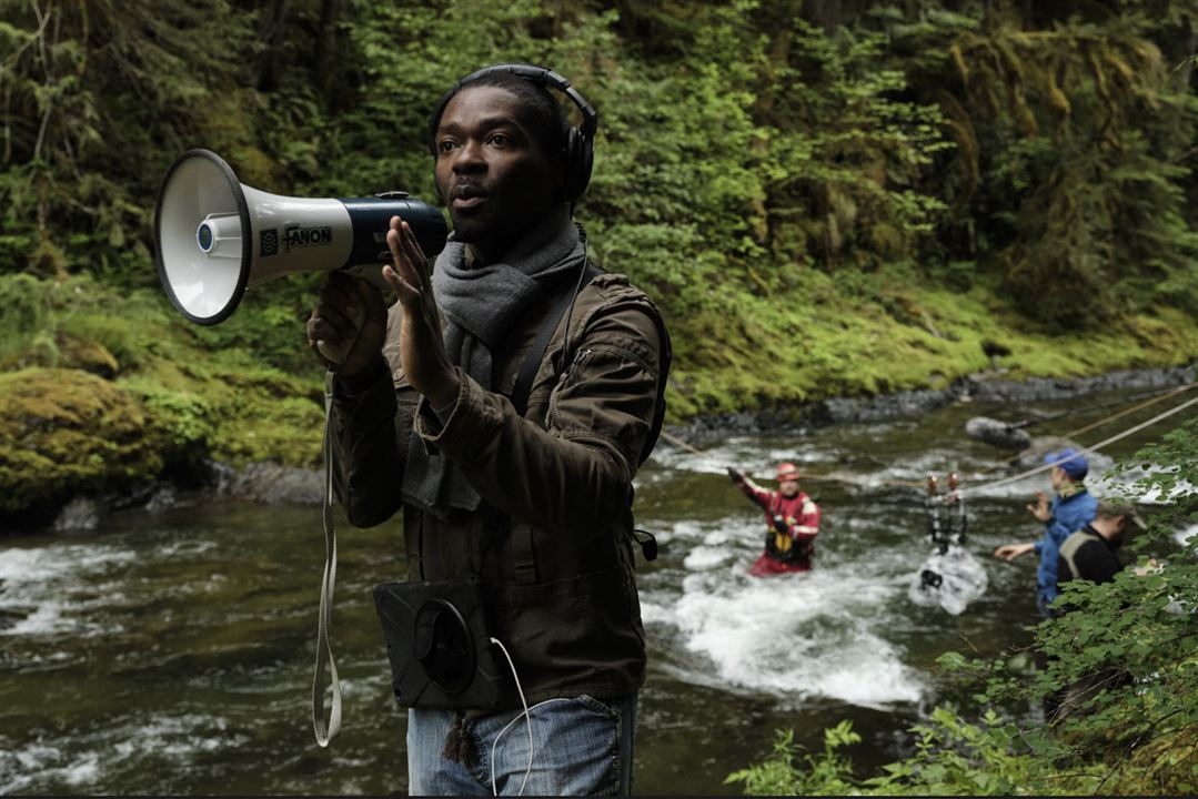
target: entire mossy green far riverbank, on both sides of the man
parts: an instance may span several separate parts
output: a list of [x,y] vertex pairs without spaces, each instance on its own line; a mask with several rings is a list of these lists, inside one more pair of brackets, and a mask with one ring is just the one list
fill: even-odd
[[[773,285],[768,297],[732,290],[667,320],[671,422],[943,388],[992,368],[985,340],[1010,350],[998,365],[1012,380],[1184,364],[1198,352],[1198,323],[1180,310],[1059,335],[996,301],[994,286],[950,290],[901,265],[845,276],[787,267]],[[152,479],[198,458],[319,465],[320,369],[284,371],[253,346],[255,325],[272,352],[292,325],[302,346],[291,311],[242,314],[220,338],[156,292],[24,276],[0,277],[6,291],[25,310],[5,320],[5,368],[14,371],[0,379],[0,513]]]

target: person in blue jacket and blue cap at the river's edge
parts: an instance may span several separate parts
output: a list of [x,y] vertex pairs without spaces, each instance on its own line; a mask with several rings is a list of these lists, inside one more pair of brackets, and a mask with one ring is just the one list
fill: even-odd
[[1049,605],[1057,599],[1057,557],[1060,545],[1072,533],[1094,521],[1099,501],[1082,483],[1090,467],[1076,449],[1067,447],[1048,453],[1045,462],[1053,464],[1052,502],[1043,491],[1036,491],[1036,504],[1027,506],[1028,512],[1043,522],[1043,538],[1025,544],[1005,544],[994,550],[994,557],[1011,562],[1024,552],[1036,553],[1040,558],[1040,568],[1036,570],[1036,609],[1047,618],[1052,615]]

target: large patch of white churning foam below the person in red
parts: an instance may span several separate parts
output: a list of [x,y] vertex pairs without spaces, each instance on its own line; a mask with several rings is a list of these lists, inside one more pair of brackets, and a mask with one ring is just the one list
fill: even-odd
[[906,601],[900,582],[878,570],[888,564],[751,577],[761,527],[738,519],[671,531],[689,545],[680,593],[647,591],[642,600],[646,623],[673,628],[668,637],[683,650],[668,658],[670,671],[782,706],[811,697],[871,708],[918,702],[924,682],[885,636],[887,607]]

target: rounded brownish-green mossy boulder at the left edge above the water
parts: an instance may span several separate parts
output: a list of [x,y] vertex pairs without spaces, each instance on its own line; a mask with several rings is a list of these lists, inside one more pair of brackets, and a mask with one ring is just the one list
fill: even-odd
[[96,375],[0,375],[0,514],[150,479],[168,447],[141,402]]

